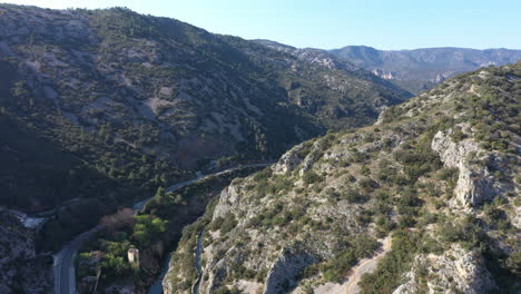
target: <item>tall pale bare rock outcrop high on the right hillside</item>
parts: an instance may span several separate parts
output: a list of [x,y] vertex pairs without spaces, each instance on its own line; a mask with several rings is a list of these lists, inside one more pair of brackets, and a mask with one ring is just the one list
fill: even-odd
[[[463,129],[469,131],[465,127]],[[491,200],[498,194],[494,177],[486,166],[469,160],[469,157],[479,157],[481,161],[488,157],[486,151],[471,138],[454,143],[451,138],[453,134],[453,129],[439,131],[432,140],[432,149],[445,166],[456,167],[460,171],[454,188],[455,203],[452,204],[469,207]]]

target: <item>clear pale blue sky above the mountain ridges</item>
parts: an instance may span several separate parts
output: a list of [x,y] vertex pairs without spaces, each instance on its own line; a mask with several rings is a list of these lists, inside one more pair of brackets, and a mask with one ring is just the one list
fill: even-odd
[[[0,0],[2,1],[2,0]],[[6,1],[6,0],[3,0]],[[521,0],[12,0],[47,8],[127,7],[212,32],[295,47],[521,49]]]

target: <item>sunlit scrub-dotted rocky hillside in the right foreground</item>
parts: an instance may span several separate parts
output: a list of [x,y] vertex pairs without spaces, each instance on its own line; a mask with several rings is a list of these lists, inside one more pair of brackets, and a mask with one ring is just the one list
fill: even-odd
[[490,67],[292,148],[185,232],[166,292],[519,293],[520,99]]

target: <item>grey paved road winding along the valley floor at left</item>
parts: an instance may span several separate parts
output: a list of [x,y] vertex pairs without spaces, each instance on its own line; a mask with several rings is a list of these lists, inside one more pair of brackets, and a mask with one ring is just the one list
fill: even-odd
[[[171,192],[196,183],[198,180],[208,178],[210,176],[218,176],[226,173],[230,173],[237,169],[247,168],[247,167],[264,167],[271,164],[253,164],[244,165],[238,167],[228,168],[222,171],[217,171],[206,176],[198,176],[195,179],[187,182],[178,183],[166,188],[166,192]],[[132,208],[136,213],[140,212],[146,204],[154,197],[147,198],[145,200],[136,203]],[[63,248],[57,253],[55,257],[53,272],[55,272],[55,294],[75,294],[76,293],[76,274],[75,274],[75,257],[80,248],[81,244],[92,236],[94,233],[98,232],[101,227],[96,226],[87,232],[81,233],[69,244],[65,245]]]

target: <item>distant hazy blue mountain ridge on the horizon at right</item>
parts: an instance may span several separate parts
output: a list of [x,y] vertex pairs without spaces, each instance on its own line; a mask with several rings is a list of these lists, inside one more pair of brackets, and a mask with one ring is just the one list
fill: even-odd
[[416,94],[461,72],[521,60],[521,50],[509,49],[377,50],[365,46],[346,46],[330,52]]

